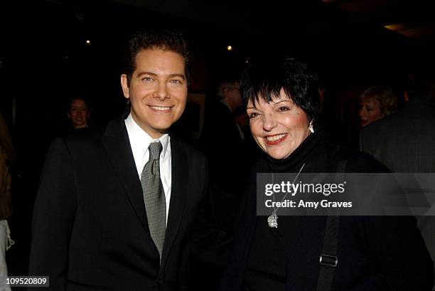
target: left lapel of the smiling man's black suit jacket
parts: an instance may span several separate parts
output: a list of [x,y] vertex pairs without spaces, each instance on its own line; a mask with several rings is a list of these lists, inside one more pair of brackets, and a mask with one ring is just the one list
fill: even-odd
[[151,238],[148,221],[146,220],[141,182],[137,176],[124,118],[119,117],[119,119],[113,120],[107,125],[107,129],[102,137],[102,143],[121,180],[122,186],[124,186],[125,192],[139,221],[141,221],[142,226],[146,229],[146,233],[148,233],[149,238]]

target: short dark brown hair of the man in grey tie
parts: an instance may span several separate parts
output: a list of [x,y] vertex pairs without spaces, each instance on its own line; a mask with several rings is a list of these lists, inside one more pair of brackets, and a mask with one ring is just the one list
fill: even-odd
[[143,50],[163,50],[178,53],[186,65],[185,75],[190,84],[188,65],[190,63],[190,48],[181,33],[167,30],[139,31],[131,37],[124,55],[123,73],[127,75],[127,84],[130,84],[131,75],[136,70],[136,57]]

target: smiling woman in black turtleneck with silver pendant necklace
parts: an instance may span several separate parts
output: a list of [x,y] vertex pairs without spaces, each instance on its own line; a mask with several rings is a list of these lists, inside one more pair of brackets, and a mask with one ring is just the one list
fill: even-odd
[[[285,56],[253,62],[242,75],[241,92],[252,136],[265,155],[255,164],[242,200],[220,290],[321,290],[326,216],[279,216],[279,227],[272,227],[273,220],[256,215],[256,174],[335,172],[343,160],[349,173],[388,169],[316,132],[316,75],[304,63]],[[328,290],[429,291],[433,285],[431,258],[410,216],[341,217],[336,256]]]

